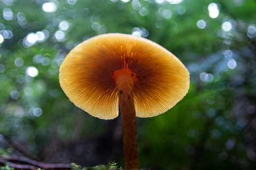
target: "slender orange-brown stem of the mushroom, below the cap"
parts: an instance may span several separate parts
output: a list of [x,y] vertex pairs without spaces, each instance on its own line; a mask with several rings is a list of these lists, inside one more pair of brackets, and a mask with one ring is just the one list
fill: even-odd
[[124,136],[125,169],[140,169],[137,141],[136,113],[133,100],[133,74],[116,78]]

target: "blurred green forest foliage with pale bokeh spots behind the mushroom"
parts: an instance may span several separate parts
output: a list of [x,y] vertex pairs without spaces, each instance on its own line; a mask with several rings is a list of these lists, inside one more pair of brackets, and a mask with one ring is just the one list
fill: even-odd
[[170,50],[191,78],[170,111],[137,119],[141,167],[256,168],[255,1],[1,0],[0,11],[0,148],[49,163],[123,166],[120,118],[76,108],[58,79],[76,45],[121,32]]

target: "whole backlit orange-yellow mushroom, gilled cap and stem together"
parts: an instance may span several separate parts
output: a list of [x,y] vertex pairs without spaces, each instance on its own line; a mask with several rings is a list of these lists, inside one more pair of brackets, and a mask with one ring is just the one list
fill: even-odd
[[121,108],[125,169],[139,169],[136,116],[153,117],[188,92],[189,72],[151,40],[122,33],[95,36],[76,46],[60,66],[60,86],[77,107],[110,120]]

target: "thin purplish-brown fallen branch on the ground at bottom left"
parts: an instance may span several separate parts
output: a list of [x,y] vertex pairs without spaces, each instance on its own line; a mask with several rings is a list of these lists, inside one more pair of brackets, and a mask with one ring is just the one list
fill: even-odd
[[[25,164],[15,164],[13,162],[19,162],[19,163],[25,163]],[[18,157],[18,156],[7,156],[7,157],[0,156],[0,163],[2,164],[8,163],[9,166],[17,169],[34,170],[34,169],[37,169],[37,167],[45,168],[45,169],[71,169],[70,164],[47,164],[47,163],[37,162],[35,160],[31,160],[25,157]]]

